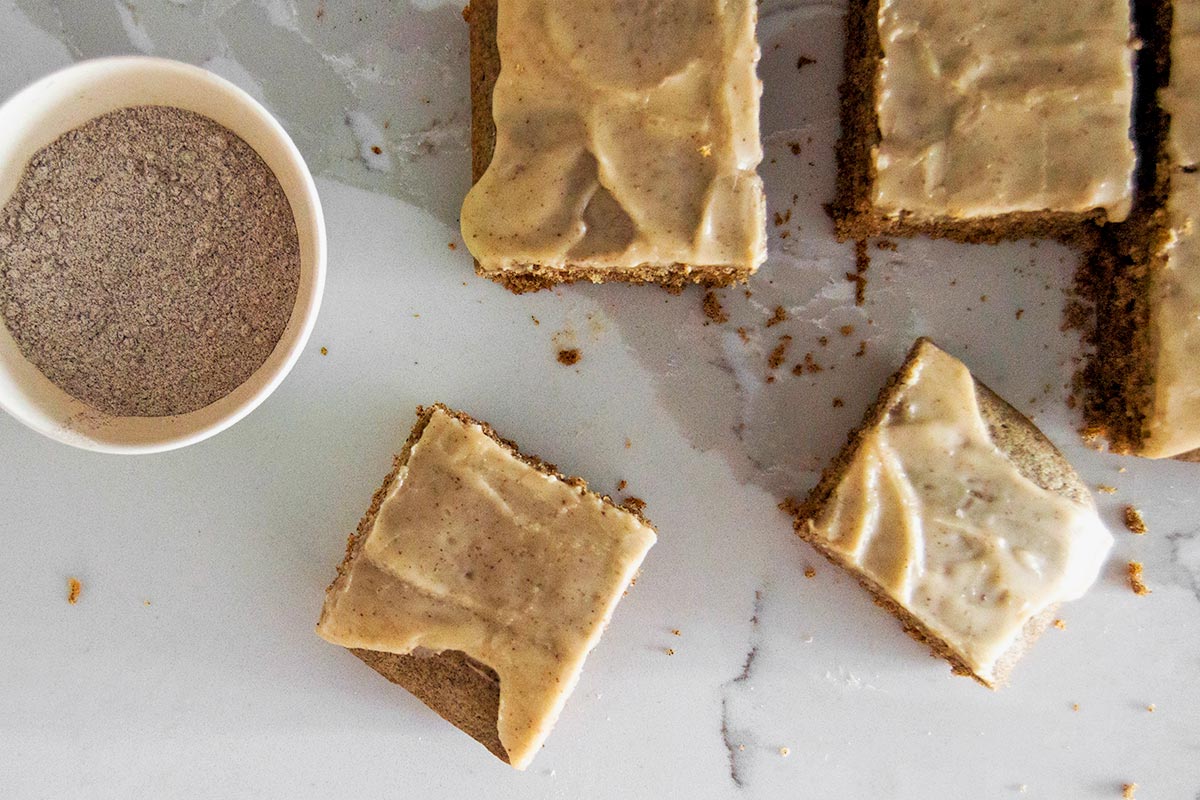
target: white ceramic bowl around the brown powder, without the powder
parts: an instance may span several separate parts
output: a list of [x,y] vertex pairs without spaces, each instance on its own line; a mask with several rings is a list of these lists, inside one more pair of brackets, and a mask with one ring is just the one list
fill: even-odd
[[325,285],[325,221],[312,175],[282,126],[253,97],[223,78],[164,59],[84,61],[55,72],[0,106],[0,206],[30,157],[62,133],[130,106],[173,106],[203,114],[253,148],[292,204],[300,236],[300,288],[292,319],[270,357],[241,386],[190,414],[109,416],[74,399],[30,363],[0,324],[0,408],[52,439],[86,450],[149,453],[206,439],[250,414],[300,356]]

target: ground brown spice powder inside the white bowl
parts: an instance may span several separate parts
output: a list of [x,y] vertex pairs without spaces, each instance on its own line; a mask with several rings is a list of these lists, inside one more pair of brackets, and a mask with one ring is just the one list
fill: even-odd
[[114,416],[224,397],[295,305],[292,207],[254,150],[178,108],[125,108],[38,151],[0,210],[0,314],[64,391]]

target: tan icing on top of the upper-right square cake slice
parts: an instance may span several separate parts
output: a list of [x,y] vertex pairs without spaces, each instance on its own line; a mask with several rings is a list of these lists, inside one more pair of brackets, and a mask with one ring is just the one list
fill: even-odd
[[1128,0],[881,0],[875,206],[974,219],[1133,194]]

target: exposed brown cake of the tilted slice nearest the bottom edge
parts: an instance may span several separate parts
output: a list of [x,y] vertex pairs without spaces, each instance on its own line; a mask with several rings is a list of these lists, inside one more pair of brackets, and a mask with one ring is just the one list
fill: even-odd
[[[486,422],[474,420],[467,414],[451,410],[440,403],[434,403],[428,408],[418,407],[416,425],[413,426],[404,447],[394,459],[391,471],[388,473],[383,485],[372,495],[371,507],[367,509],[366,515],[359,521],[358,528],[350,534],[346,543],[346,557],[337,566],[338,577],[350,569],[350,565],[366,541],[367,534],[374,527],[376,516],[379,513],[384,499],[396,483],[396,476],[400,474],[401,468],[408,463],[413,446],[420,440],[421,434],[425,433],[425,427],[437,410],[444,411],[464,425],[480,426],[484,433],[493,441],[529,467],[570,486],[587,489],[587,483],[582,479],[566,477],[559,474],[553,464],[548,464],[536,456],[522,453],[512,441],[500,438]],[[618,506],[608,495],[601,495],[601,500],[634,515],[640,522],[653,528],[638,509]],[[335,579],[334,583],[336,582]],[[332,590],[334,583],[329,585],[326,591]],[[509,754],[500,744],[500,735],[496,724],[500,708],[500,680],[490,667],[458,650],[400,655],[352,648],[350,652],[391,682],[412,692],[443,720],[487,747],[497,758],[505,763],[509,762]]]

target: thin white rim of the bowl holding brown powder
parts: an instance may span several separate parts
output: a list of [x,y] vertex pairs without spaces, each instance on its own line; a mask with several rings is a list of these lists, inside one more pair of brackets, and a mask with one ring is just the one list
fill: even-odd
[[[288,333],[288,329],[286,327],[280,341],[276,343],[276,349],[271,351],[271,355],[268,356],[268,360],[264,361],[258,369],[256,369],[245,381],[242,381],[242,384],[235,387],[229,395],[226,395],[224,397],[215,401],[208,407],[197,409],[196,411],[190,411],[188,414],[178,415],[175,417],[144,417],[144,419],[176,419],[176,420],[185,419],[190,414],[197,414],[206,409],[211,409],[212,405],[228,399],[229,396],[238,392],[240,389],[245,387],[252,381],[258,383],[258,387],[248,397],[240,401],[236,405],[233,405],[228,411],[221,414],[217,419],[208,423],[199,425],[197,427],[190,427],[187,429],[179,432],[166,432],[161,437],[149,437],[140,441],[96,440],[86,432],[80,432],[78,429],[72,428],[70,417],[62,419],[61,416],[56,416],[55,419],[53,419],[50,425],[47,425],[44,420],[31,419],[29,415],[24,413],[24,410],[16,408],[13,403],[8,402],[7,398],[5,397],[5,392],[0,392],[0,408],[7,411],[10,416],[23,423],[25,427],[29,427],[36,431],[37,433],[41,433],[42,435],[54,439],[56,441],[74,447],[79,447],[82,450],[90,450],[104,453],[145,455],[145,453],[166,452],[169,450],[186,447],[188,445],[193,445],[211,437],[215,437],[216,434],[221,433],[222,431],[226,431],[227,428],[232,427],[240,420],[245,419],[251,411],[258,408],[280,386],[280,384],[283,383],[283,379],[287,378],[288,373],[292,372],[292,368],[300,359],[300,354],[304,351],[304,348],[307,344],[310,336],[312,335],[312,330],[317,323],[317,317],[320,311],[322,297],[325,290],[325,272],[328,266],[326,265],[328,240],[325,231],[325,216],[322,209],[320,196],[317,192],[317,185],[316,181],[313,180],[312,172],[308,169],[308,164],[305,162],[304,156],[296,148],[295,142],[293,142],[292,137],[283,128],[280,121],[269,110],[266,110],[266,108],[262,103],[254,100],[254,97],[252,97],[244,89],[232,83],[230,80],[227,80],[226,78],[222,78],[221,76],[210,72],[209,70],[205,70],[204,67],[198,67],[191,64],[186,64],[184,61],[176,61],[174,59],[163,59],[163,58],[144,56],[144,55],[122,55],[122,56],[89,59],[86,61],[78,61],[71,66],[64,67],[62,70],[58,70],[55,72],[52,72],[34,80],[32,83],[28,84],[26,86],[19,89],[14,94],[5,98],[4,102],[0,103],[0,120],[4,119],[6,113],[11,112],[12,106],[17,103],[17,101],[23,100],[30,92],[37,91],[46,84],[49,84],[50,82],[62,80],[64,78],[72,78],[73,77],[72,73],[94,72],[97,68],[113,70],[113,73],[96,79],[92,83],[92,85],[102,85],[103,83],[107,82],[121,79],[122,77],[125,77],[125,74],[122,73],[127,74],[128,71],[144,70],[148,72],[158,72],[160,74],[174,73],[174,76],[182,77],[186,80],[208,84],[210,88],[217,89],[228,95],[234,102],[239,103],[245,110],[247,110],[254,118],[257,126],[265,130],[270,134],[270,138],[275,139],[274,144],[278,146],[280,152],[282,152],[286,160],[290,162],[290,164],[295,168],[296,176],[299,178],[300,190],[304,196],[304,200],[307,204],[308,210],[311,211],[311,219],[304,222],[306,223],[306,227],[311,230],[311,234],[313,236],[313,254],[311,264],[312,282],[310,284],[308,290],[305,291],[305,282],[301,281],[300,288],[298,290],[296,299],[292,311],[293,319],[289,320],[288,323],[288,327],[292,327],[293,323],[299,321],[296,327],[290,332],[290,335]],[[58,106],[64,102],[68,102],[68,97],[62,97],[55,101],[54,104]],[[116,108],[126,108],[126,107],[128,106],[120,106]],[[186,106],[184,104],[178,106],[178,108],[185,108],[186,110],[191,110],[187,109]],[[100,114],[97,114],[97,116],[98,115]],[[95,119],[95,116],[90,119]],[[78,125],[83,124],[84,122],[79,122]],[[66,133],[68,130],[73,130],[73,127],[78,127],[78,125],[72,126],[72,128],[66,128],[58,132],[55,134],[55,138],[58,138],[62,133]],[[238,131],[233,132],[240,138],[245,138],[240,132]],[[50,142],[53,140],[54,139],[50,139]],[[47,144],[49,144],[49,142],[47,142]],[[258,152],[257,148],[252,146],[252,149],[254,149],[256,152]],[[262,157],[262,154],[259,154],[259,156]],[[276,170],[272,169],[271,172],[274,173]],[[282,181],[281,181],[281,188],[282,188]],[[292,211],[293,217],[296,217],[296,210],[294,206],[295,206],[295,199],[299,198],[294,198],[293,193],[289,193],[287,190],[284,190],[284,196],[288,197],[289,205],[293,206]],[[8,199],[7,197],[0,198],[0,203],[7,203],[7,199]],[[302,222],[301,219],[299,218],[296,219],[298,230],[300,228],[301,222]],[[302,235],[304,234],[301,233],[301,236]],[[296,320],[294,318],[294,314],[301,307],[306,307],[306,311],[304,313],[302,319]],[[268,367],[269,362],[271,361],[272,357],[275,357],[275,354],[278,351],[278,348],[281,347],[286,348],[283,359],[269,372],[269,374],[260,375],[259,373]],[[17,380],[16,383],[20,381]],[[96,411],[96,414],[100,414],[101,416],[107,419],[132,419],[132,417],[112,417],[100,411]],[[52,415],[46,414],[46,416],[49,417]]]

